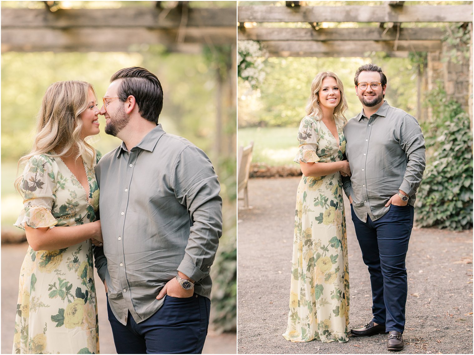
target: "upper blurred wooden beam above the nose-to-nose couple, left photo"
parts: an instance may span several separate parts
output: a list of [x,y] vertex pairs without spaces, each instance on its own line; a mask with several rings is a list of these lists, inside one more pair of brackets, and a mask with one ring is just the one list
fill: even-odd
[[[234,27],[235,7],[188,10],[187,27]],[[1,28],[77,28],[77,27],[146,27],[177,28],[181,10],[161,8],[119,9],[1,9]]]

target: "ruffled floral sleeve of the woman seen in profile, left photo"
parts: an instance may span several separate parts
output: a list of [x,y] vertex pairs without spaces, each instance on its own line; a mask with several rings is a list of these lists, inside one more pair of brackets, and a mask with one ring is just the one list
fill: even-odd
[[47,155],[31,157],[23,171],[20,185],[24,208],[15,226],[22,229],[25,229],[25,226],[53,228],[57,224],[56,218],[51,213],[55,188],[53,160]]

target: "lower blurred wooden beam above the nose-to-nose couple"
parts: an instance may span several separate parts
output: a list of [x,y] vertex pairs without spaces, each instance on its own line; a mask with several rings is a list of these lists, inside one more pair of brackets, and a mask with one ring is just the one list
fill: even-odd
[[[146,28],[47,28],[2,29],[1,52],[123,52],[143,46],[163,45],[170,51],[196,53],[202,44],[235,43],[235,28],[182,28],[183,43],[176,46],[177,29]],[[184,48],[188,46],[189,50]],[[198,50],[199,48],[199,50]]]

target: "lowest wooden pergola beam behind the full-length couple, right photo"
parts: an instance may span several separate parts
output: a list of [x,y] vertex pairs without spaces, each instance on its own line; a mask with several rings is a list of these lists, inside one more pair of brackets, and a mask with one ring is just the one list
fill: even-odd
[[[398,41],[396,50],[402,52],[419,51],[432,52],[441,50],[439,41]],[[268,52],[281,53],[364,53],[365,51],[395,52],[395,41],[268,41],[262,44]]]

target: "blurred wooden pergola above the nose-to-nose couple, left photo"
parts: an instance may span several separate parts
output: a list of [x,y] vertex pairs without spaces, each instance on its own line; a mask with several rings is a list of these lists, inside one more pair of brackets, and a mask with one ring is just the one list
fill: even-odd
[[[217,52],[232,47],[227,75],[215,70],[216,138],[214,150],[225,156],[236,152],[235,137],[226,137],[228,107],[236,106],[236,18],[231,7],[194,8],[176,1],[164,8],[161,1],[148,7],[117,9],[61,9],[56,1],[43,1],[43,9],[1,9],[1,52],[143,52],[164,46],[169,52],[200,54],[203,46]],[[53,4],[53,7],[50,6]]]

